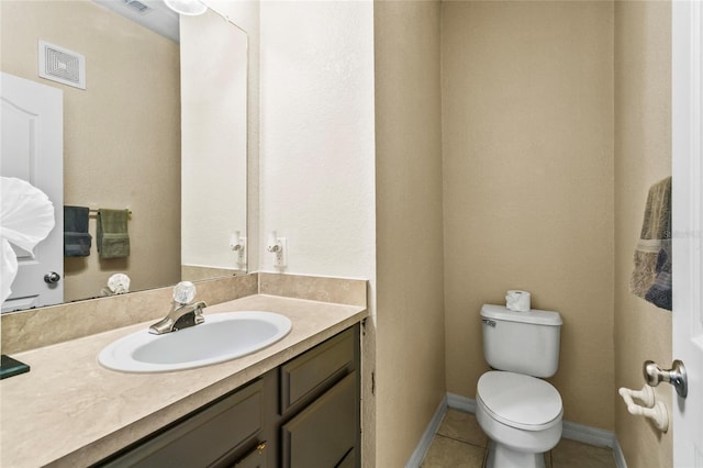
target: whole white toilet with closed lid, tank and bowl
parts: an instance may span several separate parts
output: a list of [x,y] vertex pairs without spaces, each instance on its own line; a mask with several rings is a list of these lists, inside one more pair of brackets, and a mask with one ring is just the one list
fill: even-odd
[[544,453],[561,438],[561,397],[549,382],[559,366],[558,312],[481,308],[483,356],[476,419],[493,442],[489,466],[544,467]]

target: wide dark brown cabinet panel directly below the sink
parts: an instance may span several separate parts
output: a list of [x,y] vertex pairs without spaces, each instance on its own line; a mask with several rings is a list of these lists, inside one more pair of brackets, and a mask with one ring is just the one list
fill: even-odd
[[258,380],[103,466],[207,467],[261,430]]

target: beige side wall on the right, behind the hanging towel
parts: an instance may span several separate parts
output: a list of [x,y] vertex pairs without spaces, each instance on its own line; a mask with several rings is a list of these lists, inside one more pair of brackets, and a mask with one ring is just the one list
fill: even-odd
[[[671,4],[615,2],[615,387],[643,386],[641,365],[671,363],[671,312],[628,292],[647,191],[671,175]],[[671,408],[671,388],[655,389]],[[615,430],[628,466],[672,465],[662,435],[616,401]],[[676,431],[676,427],[673,428]]]

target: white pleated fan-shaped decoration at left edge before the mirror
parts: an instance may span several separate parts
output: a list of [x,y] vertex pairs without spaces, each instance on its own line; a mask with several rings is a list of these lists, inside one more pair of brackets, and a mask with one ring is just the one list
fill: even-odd
[[10,244],[32,253],[54,229],[54,204],[46,193],[14,177],[0,178],[0,242],[2,244],[0,298],[12,293],[18,274],[18,257]]

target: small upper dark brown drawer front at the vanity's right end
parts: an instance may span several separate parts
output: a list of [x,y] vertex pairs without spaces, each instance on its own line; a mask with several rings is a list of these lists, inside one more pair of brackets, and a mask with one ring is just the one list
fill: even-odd
[[349,328],[281,366],[281,414],[354,370],[354,338]]

